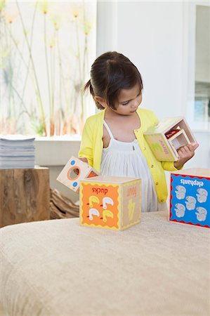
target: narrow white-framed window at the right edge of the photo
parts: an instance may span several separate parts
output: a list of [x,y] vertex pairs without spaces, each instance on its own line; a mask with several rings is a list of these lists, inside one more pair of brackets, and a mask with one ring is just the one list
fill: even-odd
[[210,6],[188,3],[188,120],[192,129],[210,131]]

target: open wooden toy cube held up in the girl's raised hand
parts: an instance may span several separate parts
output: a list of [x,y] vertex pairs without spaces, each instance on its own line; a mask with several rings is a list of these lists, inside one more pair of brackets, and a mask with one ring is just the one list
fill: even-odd
[[178,148],[187,144],[198,146],[183,117],[167,117],[145,133],[150,149],[160,162],[176,162]]

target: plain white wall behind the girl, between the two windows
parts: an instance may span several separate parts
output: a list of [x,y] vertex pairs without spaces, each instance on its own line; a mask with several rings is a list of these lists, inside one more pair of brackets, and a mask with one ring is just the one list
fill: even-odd
[[102,8],[97,54],[116,50],[129,57],[143,77],[143,106],[159,118],[183,114],[182,2],[99,1],[99,13]]

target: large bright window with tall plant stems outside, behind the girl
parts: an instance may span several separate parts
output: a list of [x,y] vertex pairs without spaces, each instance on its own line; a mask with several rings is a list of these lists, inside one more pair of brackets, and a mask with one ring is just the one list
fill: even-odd
[[1,1],[0,133],[80,133],[96,58],[96,1]]

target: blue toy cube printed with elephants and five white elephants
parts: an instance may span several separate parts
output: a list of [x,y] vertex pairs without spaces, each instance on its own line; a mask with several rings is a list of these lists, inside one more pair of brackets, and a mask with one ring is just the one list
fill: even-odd
[[210,228],[210,169],[171,173],[169,219]]

